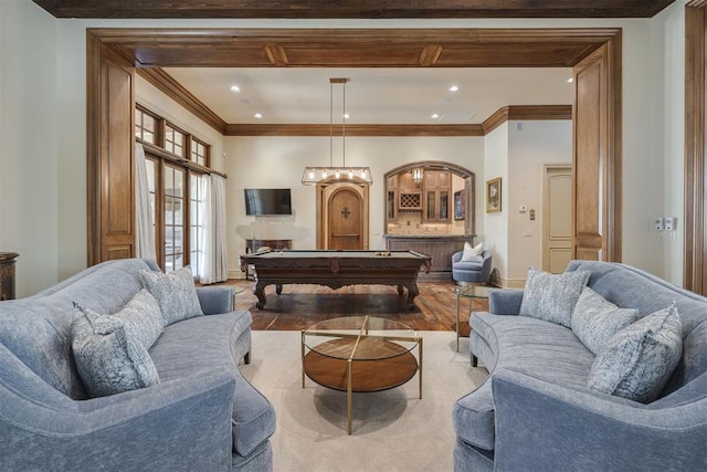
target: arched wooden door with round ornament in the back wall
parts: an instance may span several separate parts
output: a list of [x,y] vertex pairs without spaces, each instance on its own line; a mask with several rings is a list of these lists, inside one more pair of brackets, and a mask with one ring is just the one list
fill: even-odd
[[366,249],[363,243],[363,200],[350,188],[339,188],[327,202],[329,249]]

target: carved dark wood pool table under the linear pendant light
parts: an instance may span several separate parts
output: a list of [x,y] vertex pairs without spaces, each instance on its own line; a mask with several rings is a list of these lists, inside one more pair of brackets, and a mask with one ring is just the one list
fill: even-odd
[[275,293],[284,284],[317,284],[331,289],[356,284],[383,284],[398,286],[398,293],[408,289],[408,306],[414,308],[418,291],[418,273],[424,266],[430,272],[432,258],[415,251],[303,251],[265,250],[241,255],[242,265],[255,268],[257,306],[265,306],[264,289],[275,285]]

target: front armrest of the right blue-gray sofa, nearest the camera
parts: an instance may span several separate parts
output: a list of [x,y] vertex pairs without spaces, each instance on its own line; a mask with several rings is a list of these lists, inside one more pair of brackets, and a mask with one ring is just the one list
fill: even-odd
[[651,408],[498,369],[496,470],[701,470],[707,399]]

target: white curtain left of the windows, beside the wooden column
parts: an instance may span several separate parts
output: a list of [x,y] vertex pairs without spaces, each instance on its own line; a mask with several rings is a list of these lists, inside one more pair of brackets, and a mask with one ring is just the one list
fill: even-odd
[[157,259],[145,149],[135,143],[135,256]]

